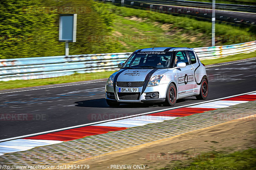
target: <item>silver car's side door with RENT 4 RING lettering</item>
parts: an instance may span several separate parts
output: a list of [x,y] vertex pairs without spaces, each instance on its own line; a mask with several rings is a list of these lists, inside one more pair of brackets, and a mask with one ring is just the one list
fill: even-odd
[[177,62],[186,63],[185,68],[176,69],[177,77],[178,77],[178,94],[186,95],[188,93],[194,92],[195,86],[195,76],[194,76],[194,67],[190,63],[186,50],[175,51],[175,58],[177,58]]

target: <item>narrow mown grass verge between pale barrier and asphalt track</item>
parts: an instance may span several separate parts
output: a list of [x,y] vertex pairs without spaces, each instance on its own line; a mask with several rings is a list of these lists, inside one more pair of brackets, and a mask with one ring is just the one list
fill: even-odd
[[[205,65],[209,65],[209,64],[215,64],[215,63],[223,63],[223,62],[228,62],[228,61],[236,61],[236,60],[241,60],[241,59],[246,59],[246,58],[252,58],[255,56],[256,56],[256,52],[252,52],[249,54],[237,54],[237,55],[231,55],[231,56],[224,57],[224,58],[203,60],[202,63],[204,63]],[[0,81],[0,90],[23,88],[23,87],[33,87],[33,86],[40,86],[40,85],[53,85],[53,84],[108,78],[114,72],[115,71],[85,73],[85,74],[75,73],[70,76],[61,76],[61,77],[55,77],[55,78],[31,79],[31,80],[11,80],[11,81],[6,81],[6,82]]]

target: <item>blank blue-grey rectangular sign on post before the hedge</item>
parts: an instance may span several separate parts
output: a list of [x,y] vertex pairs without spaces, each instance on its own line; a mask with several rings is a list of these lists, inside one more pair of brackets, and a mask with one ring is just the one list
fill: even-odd
[[68,42],[76,42],[77,14],[60,14],[59,41],[65,43],[65,55],[69,55]]

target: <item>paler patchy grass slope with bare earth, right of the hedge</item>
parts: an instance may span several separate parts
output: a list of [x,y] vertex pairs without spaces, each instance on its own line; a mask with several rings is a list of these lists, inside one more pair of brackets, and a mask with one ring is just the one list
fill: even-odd
[[202,47],[206,45],[206,41],[208,41],[208,46],[211,43],[211,40],[203,41],[202,33],[197,35],[191,32],[194,36],[190,38],[187,33],[182,33],[182,31],[177,30],[172,33],[169,28],[165,28],[168,27],[168,24],[140,21],[140,18],[132,19],[136,20],[116,16],[114,36],[122,44],[119,52],[154,47],[157,41],[157,47]]

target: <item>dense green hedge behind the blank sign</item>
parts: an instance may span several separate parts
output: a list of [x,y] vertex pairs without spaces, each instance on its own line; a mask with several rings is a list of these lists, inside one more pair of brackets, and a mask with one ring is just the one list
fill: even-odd
[[[85,11],[81,11],[81,6]],[[59,14],[77,12],[77,42],[70,55],[115,52],[119,43],[102,39],[111,34],[113,18],[104,4],[93,0],[1,0],[0,59],[65,54],[59,42]],[[98,41],[96,38],[101,38]]]

